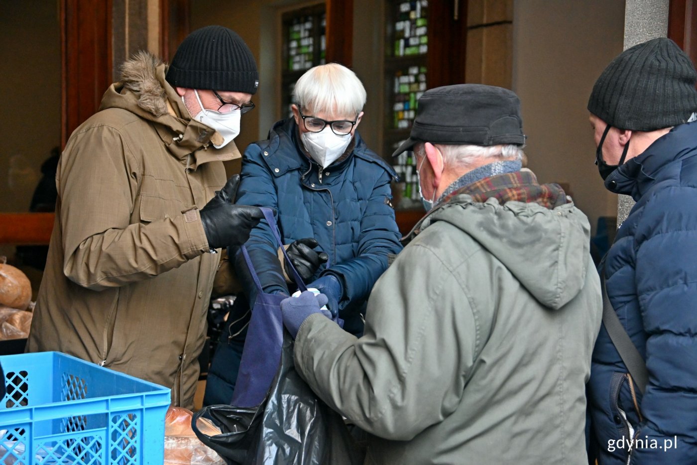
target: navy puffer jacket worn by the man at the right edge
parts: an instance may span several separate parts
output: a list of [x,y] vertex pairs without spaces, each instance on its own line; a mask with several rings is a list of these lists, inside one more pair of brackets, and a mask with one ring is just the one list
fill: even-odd
[[[608,296],[649,372],[629,385],[604,326],[589,385],[601,465],[697,461],[697,122],[678,125],[606,179],[636,201],[606,259]],[[639,411],[635,408],[639,407]],[[641,413],[641,416],[640,416]]]

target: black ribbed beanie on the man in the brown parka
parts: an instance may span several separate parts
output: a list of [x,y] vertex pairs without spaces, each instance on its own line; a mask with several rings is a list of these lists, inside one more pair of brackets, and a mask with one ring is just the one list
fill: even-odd
[[173,87],[256,93],[259,73],[250,47],[223,26],[206,26],[179,45],[165,75]]

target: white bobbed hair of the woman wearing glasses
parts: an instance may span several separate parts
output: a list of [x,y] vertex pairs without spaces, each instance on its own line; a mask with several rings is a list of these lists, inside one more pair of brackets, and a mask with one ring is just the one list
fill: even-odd
[[293,102],[300,109],[342,116],[358,115],[365,105],[365,87],[353,71],[339,63],[315,66],[300,76]]

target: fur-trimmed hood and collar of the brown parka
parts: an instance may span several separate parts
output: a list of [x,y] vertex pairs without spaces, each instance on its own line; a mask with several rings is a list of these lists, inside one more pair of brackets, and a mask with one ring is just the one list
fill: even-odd
[[[121,108],[150,121],[169,153],[196,169],[214,160],[241,158],[234,142],[214,148],[222,139],[215,130],[191,119],[181,97],[164,79],[167,65],[147,52],[139,52],[123,63],[121,82],[115,82],[102,97],[100,110]],[[189,155],[193,155],[189,158]]]

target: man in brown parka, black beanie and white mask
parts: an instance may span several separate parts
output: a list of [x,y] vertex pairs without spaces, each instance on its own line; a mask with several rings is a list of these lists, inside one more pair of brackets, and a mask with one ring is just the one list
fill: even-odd
[[[235,32],[192,32],[170,66],[147,52],[121,68],[72,133],[56,173],[56,222],[27,344],[171,388],[192,408],[220,254],[257,207],[233,203],[233,139],[254,108],[254,56]],[[217,192],[217,193],[216,193]]]

